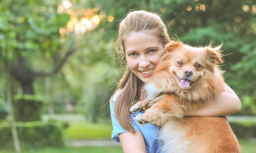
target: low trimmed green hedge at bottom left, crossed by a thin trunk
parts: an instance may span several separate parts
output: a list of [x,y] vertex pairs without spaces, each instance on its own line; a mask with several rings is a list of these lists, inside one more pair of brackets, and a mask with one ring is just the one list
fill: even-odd
[[[21,148],[64,146],[63,125],[59,122],[17,122],[16,127]],[[13,148],[10,125],[0,126],[0,148]]]

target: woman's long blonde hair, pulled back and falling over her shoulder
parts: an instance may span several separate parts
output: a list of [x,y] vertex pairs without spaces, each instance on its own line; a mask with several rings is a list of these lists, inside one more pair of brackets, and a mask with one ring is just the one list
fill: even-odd
[[[143,30],[152,30],[155,32],[163,45],[166,45],[169,41],[166,26],[159,15],[143,10],[132,11],[121,21],[115,44],[119,60],[123,64],[126,64],[123,40],[131,32]],[[116,89],[116,92],[119,90],[122,90],[122,92],[116,99],[114,113],[120,125],[129,132],[135,132],[129,110],[136,101],[143,98],[144,95],[141,92],[142,86],[143,82],[127,68]]]

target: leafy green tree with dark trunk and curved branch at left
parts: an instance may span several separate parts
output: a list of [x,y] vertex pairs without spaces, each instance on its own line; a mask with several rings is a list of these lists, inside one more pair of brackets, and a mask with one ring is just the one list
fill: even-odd
[[[67,58],[76,51],[75,48],[69,48],[62,59],[55,60],[56,63],[51,61],[64,51],[59,29],[69,19],[67,14],[57,13],[57,6],[57,2],[49,4],[44,1],[1,2],[3,24],[0,27],[0,59],[3,63],[10,64],[9,71],[20,83],[23,94],[35,94],[35,78],[57,73]],[[53,64],[50,68],[53,69],[46,72],[34,68],[31,57],[38,55],[51,61]]]

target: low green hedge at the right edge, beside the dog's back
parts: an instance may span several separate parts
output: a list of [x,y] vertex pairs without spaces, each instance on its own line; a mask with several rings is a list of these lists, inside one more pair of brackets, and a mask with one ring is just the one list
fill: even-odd
[[256,138],[256,122],[229,122],[238,139]]

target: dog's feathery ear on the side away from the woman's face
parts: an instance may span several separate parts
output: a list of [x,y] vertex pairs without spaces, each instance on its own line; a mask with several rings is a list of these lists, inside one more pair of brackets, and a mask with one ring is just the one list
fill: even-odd
[[219,63],[224,62],[222,60],[222,54],[221,54],[221,47],[223,44],[212,48],[211,45],[209,45],[208,47],[206,47],[206,53],[209,57],[210,63],[214,64],[214,65],[218,65]]

